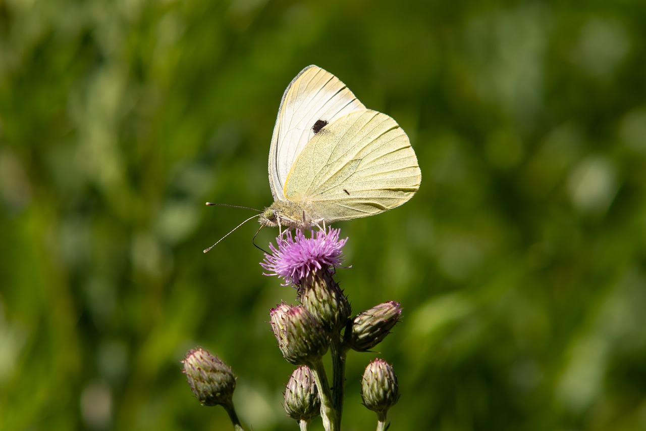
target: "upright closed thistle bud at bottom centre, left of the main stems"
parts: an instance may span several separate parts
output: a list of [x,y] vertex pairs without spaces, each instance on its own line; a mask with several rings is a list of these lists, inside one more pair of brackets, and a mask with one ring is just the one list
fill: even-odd
[[314,375],[307,366],[300,366],[289,377],[285,390],[285,411],[297,421],[309,421],[320,415],[321,403],[318,399]]

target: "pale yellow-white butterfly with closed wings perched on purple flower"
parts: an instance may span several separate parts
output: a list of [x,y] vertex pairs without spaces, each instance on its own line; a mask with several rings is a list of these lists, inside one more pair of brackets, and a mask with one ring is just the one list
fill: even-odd
[[422,179],[406,133],[339,78],[311,65],[287,86],[269,148],[274,203],[260,225],[310,228],[372,216],[413,197]]

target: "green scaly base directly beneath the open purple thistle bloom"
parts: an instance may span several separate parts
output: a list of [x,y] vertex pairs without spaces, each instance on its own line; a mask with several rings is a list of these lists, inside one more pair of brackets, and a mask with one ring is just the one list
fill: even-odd
[[332,278],[331,271],[318,271],[301,280],[298,288],[300,302],[330,334],[348,324],[352,308],[348,298]]

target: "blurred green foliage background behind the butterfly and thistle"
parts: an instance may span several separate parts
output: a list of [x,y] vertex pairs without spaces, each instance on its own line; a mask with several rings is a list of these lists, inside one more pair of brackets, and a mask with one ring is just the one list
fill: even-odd
[[[180,360],[289,430],[293,369],[255,222],[287,83],[311,63],[408,133],[413,199],[339,223],[348,360],[399,375],[392,430],[646,430],[646,3],[0,0],[0,429],[231,428]],[[264,229],[266,245],[276,232]],[[320,426],[314,429],[320,430]]]

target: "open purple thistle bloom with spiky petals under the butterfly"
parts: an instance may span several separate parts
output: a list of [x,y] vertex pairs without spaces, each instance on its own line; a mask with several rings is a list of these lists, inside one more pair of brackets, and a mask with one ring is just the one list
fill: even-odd
[[298,285],[300,280],[324,268],[337,267],[342,261],[342,247],[348,238],[339,240],[339,229],[329,228],[328,232],[318,230],[313,238],[307,238],[303,231],[296,235],[287,232],[285,239],[276,238],[278,249],[269,244],[271,254],[265,253],[260,263],[269,272],[267,276],[284,278],[287,286]]

